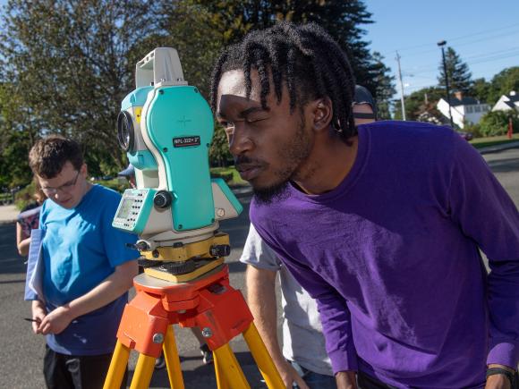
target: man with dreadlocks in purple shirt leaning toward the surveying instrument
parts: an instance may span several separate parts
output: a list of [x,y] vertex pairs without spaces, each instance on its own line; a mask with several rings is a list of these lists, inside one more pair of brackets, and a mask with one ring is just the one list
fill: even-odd
[[252,224],[318,302],[337,386],[511,387],[517,208],[451,129],[355,127],[353,90],[324,30],[280,23],[225,50],[211,96]]

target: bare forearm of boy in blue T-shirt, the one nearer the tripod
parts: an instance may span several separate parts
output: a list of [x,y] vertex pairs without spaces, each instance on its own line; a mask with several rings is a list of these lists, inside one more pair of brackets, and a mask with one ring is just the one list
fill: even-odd
[[132,280],[138,274],[137,261],[126,262],[115,269],[112,275],[99,283],[90,292],[64,305],[73,319],[85,315],[120,297],[132,287]]

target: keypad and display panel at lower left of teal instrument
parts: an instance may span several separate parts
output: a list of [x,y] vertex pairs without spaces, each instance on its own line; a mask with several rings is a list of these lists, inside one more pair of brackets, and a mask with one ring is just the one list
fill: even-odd
[[154,189],[124,190],[112,226],[129,233],[142,233],[153,208],[155,193],[157,190]]

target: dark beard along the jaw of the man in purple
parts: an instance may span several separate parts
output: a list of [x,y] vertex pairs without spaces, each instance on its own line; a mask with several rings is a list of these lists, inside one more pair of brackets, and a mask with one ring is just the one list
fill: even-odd
[[279,181],[264,188],[254,188],[254,199],[263,205],[269,205],[275,201],[281,201],[290,196],[290,182],[294,179],[297,168],[305,161],[311,153],[311,139],[305,132],[304,116],[300,114],[299,127],[294,135],[294,139],[289,146],[281,151],[282,156],[288,160],[289,164],[275,174]]

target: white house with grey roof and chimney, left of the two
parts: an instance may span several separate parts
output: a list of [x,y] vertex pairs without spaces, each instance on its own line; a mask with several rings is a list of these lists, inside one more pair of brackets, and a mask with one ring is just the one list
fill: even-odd
[[[466,123],[479,123],[481,116],[490,110],[488,104],[481,103],[474,97],[464,97],[462,92],[455,92],[455,97],[450,97],[450,105],[452,120],[462,129]],[[436,106],[441,114],[449,118],[446,99],[440,98]]]

